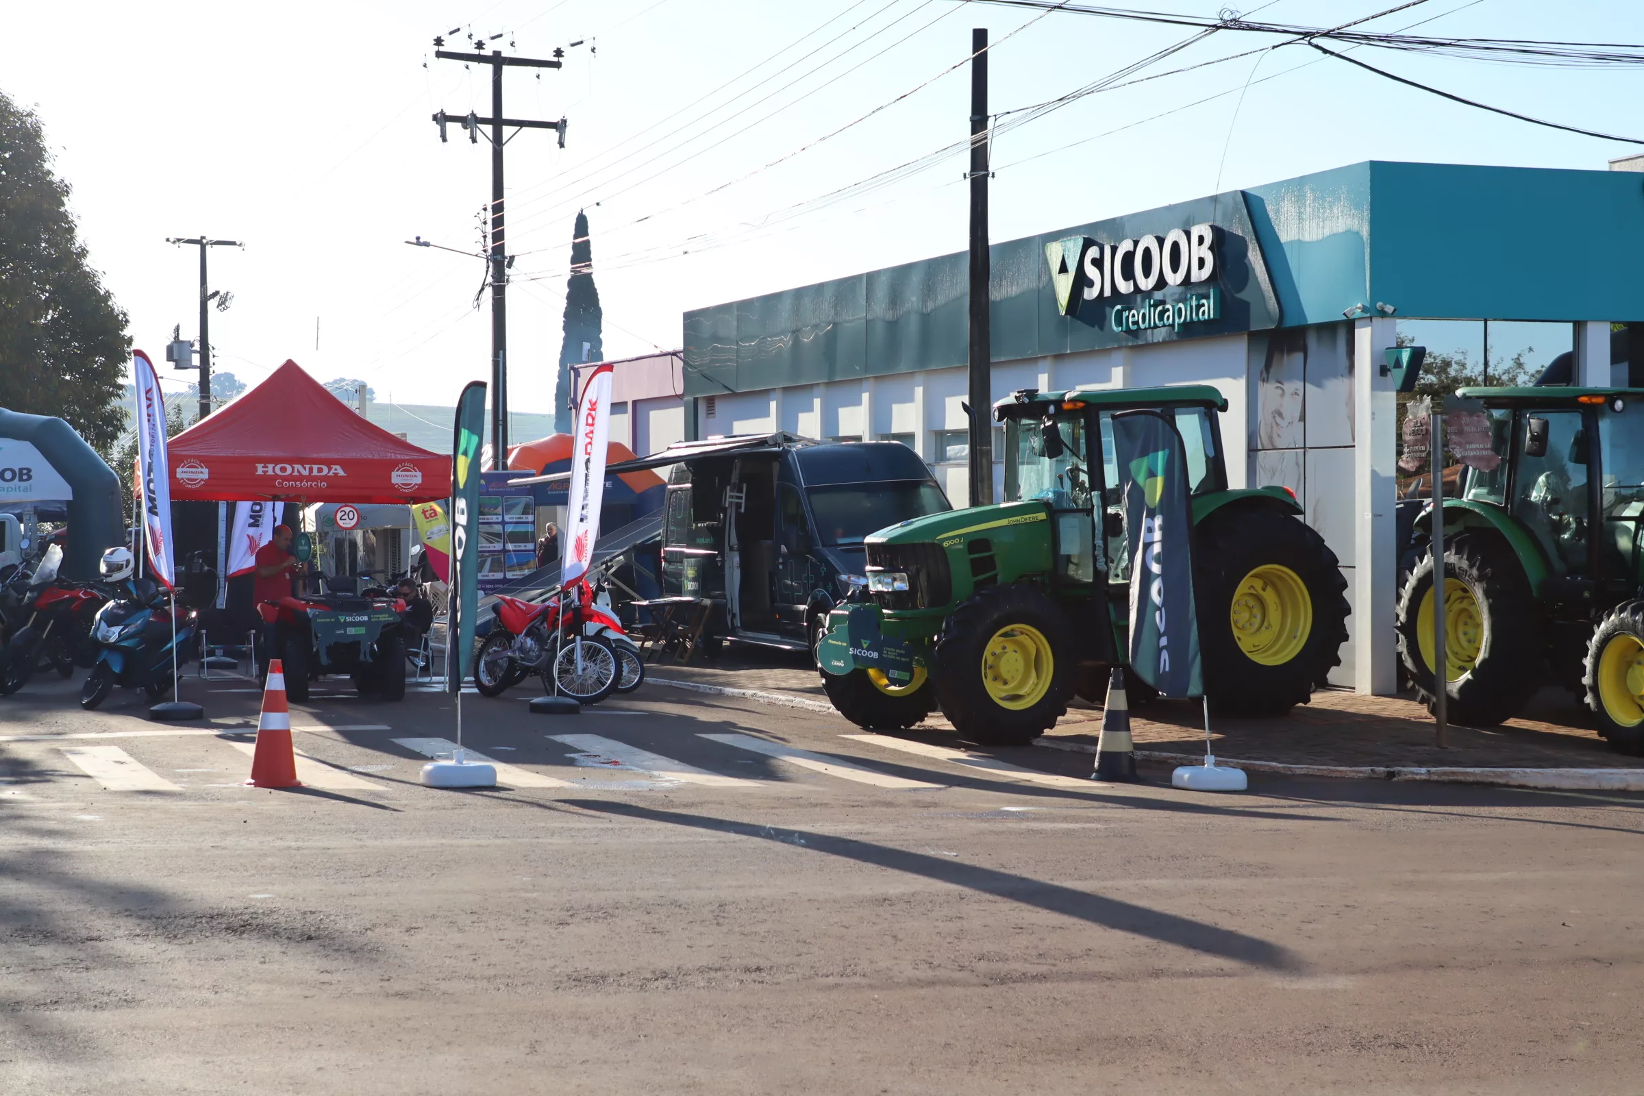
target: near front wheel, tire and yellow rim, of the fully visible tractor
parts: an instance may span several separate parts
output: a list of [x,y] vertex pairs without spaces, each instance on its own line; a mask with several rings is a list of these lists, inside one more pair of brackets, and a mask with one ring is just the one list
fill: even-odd
[[1055,726],[1074,693],[1074,644],[1062,608],[1036,587],[986,587],[954,610],[931,684],[958,736],[1026,746]]

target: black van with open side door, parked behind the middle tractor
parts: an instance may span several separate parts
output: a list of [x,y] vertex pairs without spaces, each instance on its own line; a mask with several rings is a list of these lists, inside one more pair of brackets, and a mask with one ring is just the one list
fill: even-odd
[[663,590],[710,598],[710,636],[814,651],[829,610],[863,582],[863,537],[952,509],[901,442],[773,434],[677,449],[694,447],[667,481]]

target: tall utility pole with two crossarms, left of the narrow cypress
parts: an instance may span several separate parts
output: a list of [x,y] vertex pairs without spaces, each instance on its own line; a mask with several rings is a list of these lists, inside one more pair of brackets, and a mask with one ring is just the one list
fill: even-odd
[[[455,31],[452,31],[455,33]],[[501,38],[501,35],[496,35]],[[467,117],[450,118],[444,110],[434,112],[434,123],[439,127],[439,140],[446,140],[447,120],[459,122],[469,131],[469,141],[478,145],[480,127],[490,127],[485,140],[492,143],[492,232],[490,232],[490,286],[492,286],[492,467],[501,468],[508,462],[508,246],[503,232],[503,145],[513,136],[503,138],[503,130],[557,130],[559,146],[566,146],[566,120],[534,122],[526,118],[503,117],[503,69],[557,69],[564,49],[554,49],[554,61],[538,61],[533,58],[505,58],[501,49],[483,53],[452,53],[439,49],[446,39],[434,39],[434,56],[442,61],[465,61],[469,64],[492,66],[492,117],[480,118],[473,112]]]

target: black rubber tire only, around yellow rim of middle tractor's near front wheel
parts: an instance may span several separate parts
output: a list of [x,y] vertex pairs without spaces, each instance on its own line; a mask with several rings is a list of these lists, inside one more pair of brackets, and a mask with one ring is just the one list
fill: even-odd
[[[1028,707],[1009,708],[983,680],[990,647],[1001,633],[1028,628],[1044,639],[1049,665],[1036,665],[1044,690]],[[1028,746],[1067,713],[1074,695],[1074,641],[1067,616],[1042,590],[1029,585],[986,587],[960,603],[942,623],[931,659],[931,685],[942,715],[965,741],[980,746]]]

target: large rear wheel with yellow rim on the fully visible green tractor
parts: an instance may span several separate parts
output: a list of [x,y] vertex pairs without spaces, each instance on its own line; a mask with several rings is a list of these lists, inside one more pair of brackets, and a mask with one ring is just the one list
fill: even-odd
[[[1263,569],[1274,570],[1261,575]],[[1251,582],[1269,596],[1253,592]],[[1300,595],[1310,623],[1292,628],[1289,636],[1264,636],[1274,610],[1269,598]],[[1307,703],[1342,664],[1351,613],[1346,577],[1325,539],[1300,518],[1253,508],[1207,518],[1194,531],[1194,601],[1205,693],[1221,715],[1284,715]],[[1241,636],[1248,646],[1263,647],[1251,652],[1240,646]],[[1126,677],[1143,685],[1136,674]]]

